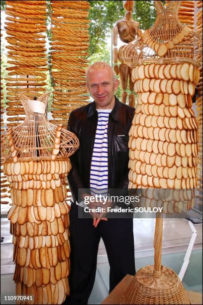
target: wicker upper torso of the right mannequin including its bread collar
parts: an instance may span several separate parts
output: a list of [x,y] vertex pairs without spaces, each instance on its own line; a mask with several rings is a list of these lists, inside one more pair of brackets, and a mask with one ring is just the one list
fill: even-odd
[[133,44],[123,48],[120,55],[123,61],[128,66],[135,67],[142,62],[164,63],[170,59],[170,62],[178,63],[190,58],[199,66],[201,35],[179,21],[181,1],[170,1],[166,7],[159,0],[154,3],[157,10],[154,25],[144,33],[139,33],[140,38]]

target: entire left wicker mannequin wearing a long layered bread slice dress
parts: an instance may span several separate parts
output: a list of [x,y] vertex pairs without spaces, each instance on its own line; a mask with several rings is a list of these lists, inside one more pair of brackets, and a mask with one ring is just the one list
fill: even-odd
[[[25,121],[10,128],[1,145],[12,199],[8,219],[14,244],[13,280],[16,295],[33,296],[30,304],[62,304],[69,294],[66,176],[71,169],[69,156],[79,145],[74,134],[48,122],[47,101],[48,94],[37,101],[23,96]],[[31,110],[30,103],[37,105],[38,112]]]

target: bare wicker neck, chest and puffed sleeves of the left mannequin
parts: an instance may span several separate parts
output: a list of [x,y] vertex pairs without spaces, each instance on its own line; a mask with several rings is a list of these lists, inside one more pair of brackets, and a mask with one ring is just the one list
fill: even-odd
[[[49,93],[40,96],[37,101],[48,103]],[[46,114],[31,111],[28,103],[28,97],[21,96],[21,102],[24,106],[26,117],[23,123],[12,128],[12,142],[16,151],[18,160],[39,160],[50,159],[54,148],[59,150],[56,158],[67,158],[72,155],[79,147],[77,137],[60,126],[51,124]],[[56,134],[60,133],[61,142],[56,143]],[[58,147],[60,145],[60,149]],[[1,156],[6,160],[12,160],[10,143],[6,133],[1,139]]]

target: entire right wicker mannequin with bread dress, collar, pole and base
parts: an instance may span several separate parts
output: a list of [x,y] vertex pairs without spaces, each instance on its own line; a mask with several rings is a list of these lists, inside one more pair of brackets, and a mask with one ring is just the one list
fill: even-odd
[[[126,45],[121,56],[133,68],[138,94],[129,131],[129,188],[177,189],[182,196],[197,186],[198,124],[192,97],[200,77],[201,36],[180,23],[180,2],[165,7],[155,1],[154,26]],[[157,214],[154,266],[136,273],[121,304],[190,304],[176,273],[161,265],[162,231],[162,214]]]

